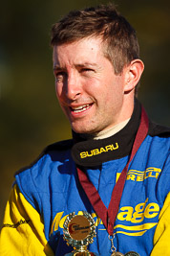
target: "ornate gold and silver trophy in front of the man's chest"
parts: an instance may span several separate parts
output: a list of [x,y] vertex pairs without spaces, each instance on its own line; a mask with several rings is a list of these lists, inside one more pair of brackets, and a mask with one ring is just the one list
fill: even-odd
[[74,247],[74,250],[65,256],[96,256],[87,249],[96,236],[96,224],[88,212],[83,211],[82,215],[75,215],[74,212],[69,214],[63,226],[64,240]]

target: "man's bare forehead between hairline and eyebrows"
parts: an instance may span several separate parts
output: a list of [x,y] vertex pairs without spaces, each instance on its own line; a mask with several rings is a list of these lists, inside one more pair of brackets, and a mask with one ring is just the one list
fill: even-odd
[[98,61],[101,58],[104,58],[102,40],[98,37],[87,37],[53,47],[53,62],[55,64],[73,61],[84,63]]

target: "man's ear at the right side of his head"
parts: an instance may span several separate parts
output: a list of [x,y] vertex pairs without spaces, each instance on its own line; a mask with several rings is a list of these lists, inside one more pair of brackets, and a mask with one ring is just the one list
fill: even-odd
[[125,67],[124,92],[130,92],[136,87],[143,70],[144,64],[140,59],[132,60],[131,63]]

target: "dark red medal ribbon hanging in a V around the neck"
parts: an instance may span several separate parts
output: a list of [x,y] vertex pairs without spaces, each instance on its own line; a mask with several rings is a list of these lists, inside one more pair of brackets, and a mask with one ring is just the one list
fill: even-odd
[[83,187],[87,197],[89,198],[91,204],[93,205],[97,216],[101,219],[101,221],[103,221],[103,224],[110,236],[112,236],[114,233],[114,223],[117,218],[117,211],[118,211],[119,202],[123,192],[129,163],[132,161],[141,143],[145,139],[148,133],[148,128],[149,128],[149,120],[144,108],[142,107],[140,124],[138,127],[138,132],[135,138],[135,142],[131,151],[131,155],[128,163],[126,164],[125,168],[121,172],[121,175],[119,176],[117,183],[114,187],[108,209],[104,205],[101,198],[99,197],[96,187],[89,180],[87,175],[78,167],[76,168],[81,186]]

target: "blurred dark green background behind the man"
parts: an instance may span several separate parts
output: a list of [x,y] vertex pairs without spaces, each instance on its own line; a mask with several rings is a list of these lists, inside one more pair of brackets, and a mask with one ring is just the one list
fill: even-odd
[[[1,2],[0,223],[13,174],[29,165],[48,144],[71,137],[69,123],[55,99],[52,24],[73,9],[107,2]],[[170,1],[114,2],[138,33],[140,56],[145,63],[138,98],[154,121],[170,126]]]

